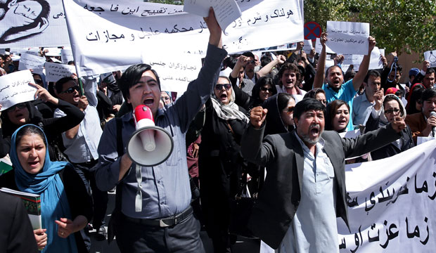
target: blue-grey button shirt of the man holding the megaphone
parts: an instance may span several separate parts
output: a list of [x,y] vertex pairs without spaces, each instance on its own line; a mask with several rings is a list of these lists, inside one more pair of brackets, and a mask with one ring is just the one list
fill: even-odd
[[[115,120],[106,124],[98,145],[96,184],[101,190],[110,190],[122,183],[122,213],[140,219],[158,219],[183,212],[191,203],[188,166],[186,163],[185,134],[201,106],[210,97],[216,84],[219,67],[227,55],[224,49],[209,45],[205,65],[198,78],[188,85],[186,92],[174,103],[158,110],[155,125],[170,134],[174,149],[169,158],[154,167],[141,167],[142,210],[135,212],[135,164],[118,182],[120,160],[117,154],[117,127]],[[122,143],[127,145],[135,131],[132,112],[122,117]],[[125,149],[124,149],[125,150]]]

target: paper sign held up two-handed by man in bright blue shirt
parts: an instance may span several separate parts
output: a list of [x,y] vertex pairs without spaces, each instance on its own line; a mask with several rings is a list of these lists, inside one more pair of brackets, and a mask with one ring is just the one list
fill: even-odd
[[369,24],[327,21],[326,45],[336,53],[368,54]]

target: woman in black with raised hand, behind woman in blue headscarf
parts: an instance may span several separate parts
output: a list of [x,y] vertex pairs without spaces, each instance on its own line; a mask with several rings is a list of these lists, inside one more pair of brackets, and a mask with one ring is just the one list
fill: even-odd
[[43,100],[46,103],[56,106],[65,112],[66,116],[44,118],[41,115],[41,112],[39,112],[34,105],[37,100],[18,103],[13,105],[11,108],[2,111],[0,116],[0,157],[4,157],[9,153],[11,148],[11,136],[18,127],[23,126],[24,124],[35,124],[40,126],[47,136],[51,159],[53,161],[59,160],[59,154],[56,154],[53,149],[53,143],[56,140],[56,136],[74,126],[77,126],[77,124],[80,124],[84,118],[84,114],[74,105],[51,96],[49,91],[38,84],[30,83],[30,85],[37,89],[34,96],[37,100]]

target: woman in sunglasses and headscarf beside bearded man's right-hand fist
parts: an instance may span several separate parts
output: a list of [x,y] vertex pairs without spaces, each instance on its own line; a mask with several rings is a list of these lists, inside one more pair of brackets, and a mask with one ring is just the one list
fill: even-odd
[[[383,91],[380,91],[374,94],[374,97],[376,103],[373,105],[368,121],[366,122],[365,132],[376,130],[380,126],[385,126],[399,118],[406,118],[404,105],[401,99],[394,94],[387,94],[383,98]],[[391,157],[392,155],[397,155],[415,146],[409,126],[406,125],[406,128],[401,131],[401,135],[402,138],[399,138],[397,141],[371,152],[373,160]]]

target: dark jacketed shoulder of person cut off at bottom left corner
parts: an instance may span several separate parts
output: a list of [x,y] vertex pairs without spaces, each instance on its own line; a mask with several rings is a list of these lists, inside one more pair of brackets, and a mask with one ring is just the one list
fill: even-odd
[[37,253],[37,241],[23,202],[0,192],[0,252]]

